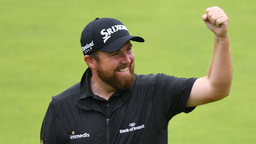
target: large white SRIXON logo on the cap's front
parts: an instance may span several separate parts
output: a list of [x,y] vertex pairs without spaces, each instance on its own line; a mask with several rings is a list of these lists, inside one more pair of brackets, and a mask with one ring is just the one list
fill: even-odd
[[127,30],[127,28],[124,25],[114,25],[111,28],[108,28],[107,30],[106,29],[101,30],[100,34],[103,36],[105,35],[103,37],[104,39],[103,42],[106,43],[106,41],[111,37],[110,35],[114,32],[117,32],[118,30]]

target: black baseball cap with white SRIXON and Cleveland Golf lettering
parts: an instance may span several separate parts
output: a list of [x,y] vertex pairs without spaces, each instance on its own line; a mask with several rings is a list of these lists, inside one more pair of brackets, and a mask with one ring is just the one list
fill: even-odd
[[126,26],[113,18],[95,18],[82,31],[81,47],[84,55],[98,50],[116,52],[129,40],[144,42],[138,36],[130,36]]

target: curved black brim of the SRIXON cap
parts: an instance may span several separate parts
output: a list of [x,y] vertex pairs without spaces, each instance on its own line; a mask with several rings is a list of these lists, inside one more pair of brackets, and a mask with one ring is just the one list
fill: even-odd
[[105,45],[104,47],[102,47],[100,49],[100,51],[116,52],[120,48],[122,48],[125,45],[125,43],[128,42],[129,40],[136,41],[136,42],[144,42],[145,41],[142,37],[125,35],[125,36],[119,37],[119,38],[113,40],[112,42],[110,42],[109,44]]

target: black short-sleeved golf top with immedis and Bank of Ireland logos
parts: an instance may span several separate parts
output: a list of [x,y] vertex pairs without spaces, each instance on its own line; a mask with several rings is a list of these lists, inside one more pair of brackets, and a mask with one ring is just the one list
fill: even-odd
[[44,144],[167,144],[169,120],[185,108],[195,78],[136,75],[131,90],[107,101],[80,83],[52,97],[41,129]]

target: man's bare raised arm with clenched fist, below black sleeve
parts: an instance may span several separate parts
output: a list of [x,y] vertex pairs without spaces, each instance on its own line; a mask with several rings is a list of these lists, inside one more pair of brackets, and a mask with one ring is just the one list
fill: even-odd
[[208,75],[195,81],[186,107],[220,100],[229,95],[232,81],[232,61],[229,48],[228,17],[219,7],[206,9],[202,16],[215,34],[214,52]]

